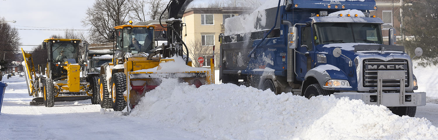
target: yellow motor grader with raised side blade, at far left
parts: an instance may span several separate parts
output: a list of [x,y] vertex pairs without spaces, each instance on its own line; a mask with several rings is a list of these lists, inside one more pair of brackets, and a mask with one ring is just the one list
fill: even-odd
[[48,58],[45,70],[39,70],[40,73],[35,72],[32,54],[21,49],[29,96],[35,97],[30,105],[53,107],[54,102],[86,99],[99,104],[99,78],[86,77],[80,46],[86,47],[88,43],[80,39],[45,39],[41,47],[47,50]]

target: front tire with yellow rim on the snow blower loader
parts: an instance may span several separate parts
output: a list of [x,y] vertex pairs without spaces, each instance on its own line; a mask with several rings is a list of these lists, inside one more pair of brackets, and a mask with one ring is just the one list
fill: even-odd
[[126,107],[126,101],[123,97],[123,92],[126,91],[126,75],[125,73],[114,73],[111,79],[113,109],[114,111],[122,111]]

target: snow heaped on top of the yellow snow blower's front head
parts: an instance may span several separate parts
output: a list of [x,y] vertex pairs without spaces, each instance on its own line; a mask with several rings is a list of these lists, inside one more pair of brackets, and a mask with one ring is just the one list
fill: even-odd
[[145,70],[136,70],[134,72],[181,73],[181,72],[189,72],[189,71],[209,70],[207,68],[187,66],[185,59],[181,58],[181,56],[173,56],[166,59],[174,59],[175,61],[159,63],[161,70],[158,70],[159,66],[156,66],[154,68],[145,69]]

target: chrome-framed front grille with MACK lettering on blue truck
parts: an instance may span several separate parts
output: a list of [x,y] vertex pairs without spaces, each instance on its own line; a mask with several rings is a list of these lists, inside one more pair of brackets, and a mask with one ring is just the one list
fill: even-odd
[[[407,60],[392,59],[383,61],[380,59],[365,59],[364,60],[364,87],[377,87],[377,71],[378,70],[401,70],[405,74],[405,87],[409,87],[409,66]],[[383,87],[400,87],[399,80],[385,80],[382,83]]]

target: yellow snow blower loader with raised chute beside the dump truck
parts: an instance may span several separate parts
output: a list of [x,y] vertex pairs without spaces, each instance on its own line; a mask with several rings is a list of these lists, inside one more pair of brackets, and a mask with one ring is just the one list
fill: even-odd
[[[142,22],[132,25],[120,25],[109,31],[109,38],[114,39],[113,63],[105,63],[100,70],[101,107],[123,111],[129,114],[131,109],[155,89],[163,78],[175,78],[199,87],[213,84],[214,67],[192,67],[188,49],[181,39],[182,23],[178,16],[184,2],[169,9],[170,19],[166,21],[167,31],[161,31],[167,42],[158,45],[154,40],[157,26]],[[169,8],[169,5],[168,5]],[[184,12],[184,10],[183,10]],[[213,62],[213,61],[211,61]],[[213,65],[214,66],[214,65]]]

